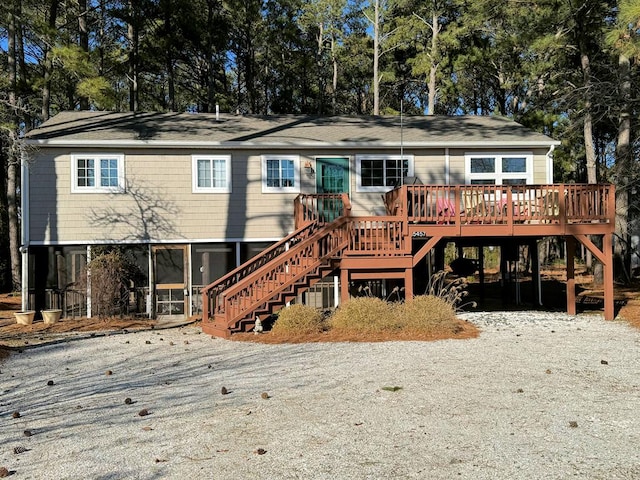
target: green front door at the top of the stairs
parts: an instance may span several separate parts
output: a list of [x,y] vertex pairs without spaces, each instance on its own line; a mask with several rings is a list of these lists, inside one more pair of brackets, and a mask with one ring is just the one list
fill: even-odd
[[[317,193],[349,193],[349,159],[317,158],[316,191]],[[341,199],[326,198],[318,201],[318,213],[326,222],[342,215],[342,210]]]

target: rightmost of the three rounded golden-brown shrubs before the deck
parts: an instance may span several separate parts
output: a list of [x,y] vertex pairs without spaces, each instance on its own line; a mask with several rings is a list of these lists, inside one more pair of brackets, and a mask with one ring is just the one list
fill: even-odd
[[446,300],[433,295],[418,295],[396,307],[398,323],[421,333],[458,332],[456,312]]

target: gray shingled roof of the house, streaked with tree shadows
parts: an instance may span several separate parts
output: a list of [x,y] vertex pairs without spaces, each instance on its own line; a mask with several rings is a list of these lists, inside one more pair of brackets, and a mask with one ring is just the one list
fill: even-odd
[[247,116],[63,112],[27,134],[51,146],[550,146],[540,133],[486,116]]

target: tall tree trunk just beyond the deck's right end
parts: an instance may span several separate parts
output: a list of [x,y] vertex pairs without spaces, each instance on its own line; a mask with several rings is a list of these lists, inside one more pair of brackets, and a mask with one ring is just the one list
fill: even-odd
[[616,242],[614,265],[618,280],[630,280],[631,254],[629,248],[629,175],[632,169],[631,155],[631,76],[629,58],[621,54],[618,59],[620,75],[620,118],[616,143]]

